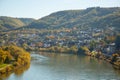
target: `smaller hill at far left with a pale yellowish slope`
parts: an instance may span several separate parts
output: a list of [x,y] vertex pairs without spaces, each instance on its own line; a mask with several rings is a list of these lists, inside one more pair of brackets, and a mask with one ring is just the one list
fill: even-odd
[[13,18],[13,17],[0,16],[0,31],[23,27],[33,21],[34,19],[31,18]]

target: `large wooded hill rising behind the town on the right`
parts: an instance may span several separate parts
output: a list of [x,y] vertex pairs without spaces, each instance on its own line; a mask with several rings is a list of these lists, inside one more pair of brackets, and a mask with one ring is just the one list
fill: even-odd
[[52,13],[32,22],[26,28],[120,27],[120,8],[92,7]]

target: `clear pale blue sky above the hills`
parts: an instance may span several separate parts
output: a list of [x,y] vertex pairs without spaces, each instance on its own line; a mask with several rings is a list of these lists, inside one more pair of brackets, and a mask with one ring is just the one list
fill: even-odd
[[0,0],[0,16],[36,18],[62,10],[120,7],[120,0]]

